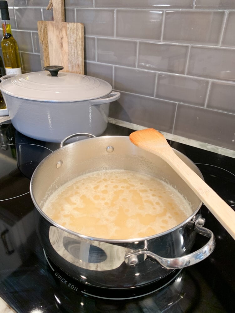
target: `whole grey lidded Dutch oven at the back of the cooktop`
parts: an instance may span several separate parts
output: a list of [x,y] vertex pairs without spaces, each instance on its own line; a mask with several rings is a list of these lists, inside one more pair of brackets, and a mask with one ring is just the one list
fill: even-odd
[[[108,123],[109,105],[119,92],[104,80],[48,71],[26,73],[5,79],[0,89],[13,126],[34,139],[61,142],[77,132],[101,135]],[[10,75],[9,75],[10,76]]]

